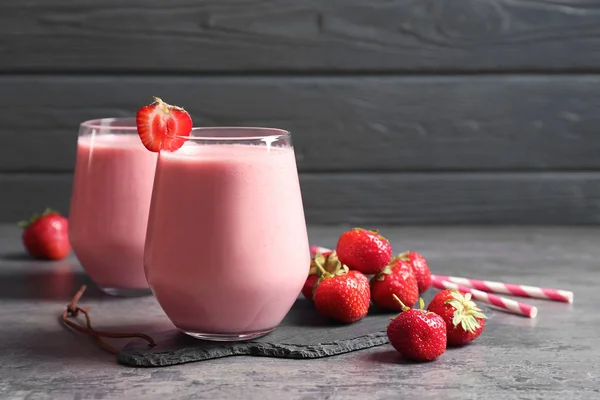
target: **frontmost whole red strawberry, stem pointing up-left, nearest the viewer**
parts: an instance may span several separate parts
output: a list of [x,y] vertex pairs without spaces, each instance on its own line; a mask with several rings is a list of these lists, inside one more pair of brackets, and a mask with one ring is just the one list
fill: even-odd
[[[397,301],[400,302],[399,299]],[[414,361],[432,361],[441,356],[446,351],[446,323],[442,317],[402,306],[404,311],[387,328],[391,345],[398,353]]]

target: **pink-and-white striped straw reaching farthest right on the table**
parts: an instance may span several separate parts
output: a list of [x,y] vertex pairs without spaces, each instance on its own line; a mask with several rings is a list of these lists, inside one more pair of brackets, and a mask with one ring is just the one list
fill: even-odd
[[474,288],[483,292],[511,294],[513,296],[562,301],[565,303],[573,302],[573,292],[569,292],[568,290],[548,289],[494,281],[481,281],[478,279],[458,278],[455,276],[444,275],[434,275],[432,278],[450,281],[457,285]]

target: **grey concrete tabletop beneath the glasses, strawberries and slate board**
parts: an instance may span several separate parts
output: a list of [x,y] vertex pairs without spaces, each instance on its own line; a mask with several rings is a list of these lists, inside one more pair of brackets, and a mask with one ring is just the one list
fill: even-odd
[[[341,229],[311,228],[311,241],[333,246]],[[433,363],[406,363],[384,345],[317,360],[230,357],[136,369],[59,324],[66,302],[89,283],[76,260],[28,261],[19,231],[0,226],[0,398],[600,398],[600,228],[382,233],[398,250],[422,251],[435,272],[570,289],[575,303],[531,301],[535,320],[492,310],[477,342]],[[92,286],[83,304],[98,328],[170,327],[151,297],[115,299]]]

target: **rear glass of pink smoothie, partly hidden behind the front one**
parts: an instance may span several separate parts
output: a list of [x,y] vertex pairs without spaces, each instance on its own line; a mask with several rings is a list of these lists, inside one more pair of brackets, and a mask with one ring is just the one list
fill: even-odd
[[142,144],[135,118],[80,125],[69,239],[83,269],[106,293],[151,294],[144,243],[157,158]]

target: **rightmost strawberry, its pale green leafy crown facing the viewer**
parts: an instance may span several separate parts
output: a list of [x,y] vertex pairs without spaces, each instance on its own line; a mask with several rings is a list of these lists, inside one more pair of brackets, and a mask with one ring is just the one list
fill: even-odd
[[435,295],[427,309],[446,322],[448,344],[461,346],[475,340],[485,326],[485,315],[471,301],[471,293],[443,290]]

